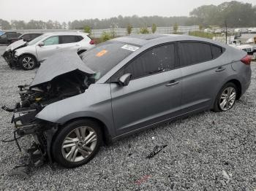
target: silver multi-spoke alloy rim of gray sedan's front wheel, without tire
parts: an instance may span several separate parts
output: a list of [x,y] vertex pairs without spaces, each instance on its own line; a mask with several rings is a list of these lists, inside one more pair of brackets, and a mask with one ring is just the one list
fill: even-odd
[[97,145],[97,133],[94,129],[81,126],[72,130],[64,139],[61,152],[69,162],[79,162],[91,155]]

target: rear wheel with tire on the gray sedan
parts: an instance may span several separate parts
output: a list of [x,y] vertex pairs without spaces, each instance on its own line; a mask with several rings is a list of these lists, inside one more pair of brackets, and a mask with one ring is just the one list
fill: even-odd
[[238,88],[232,82],[227,82],[214,101],[214,112],[227,112],[232,109],[238,98]]

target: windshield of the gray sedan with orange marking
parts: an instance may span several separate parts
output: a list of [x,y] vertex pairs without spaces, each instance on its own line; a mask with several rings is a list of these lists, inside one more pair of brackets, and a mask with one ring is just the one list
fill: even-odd
[[83,52],[80,58],[86,66],[96,72],[94,78],[97,80],[138,48],[122,42],[105,42]]

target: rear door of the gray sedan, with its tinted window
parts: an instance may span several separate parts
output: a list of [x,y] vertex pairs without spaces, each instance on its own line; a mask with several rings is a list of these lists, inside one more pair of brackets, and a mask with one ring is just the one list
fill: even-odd
[[178,43],[184,112],[211,106],[219,85],[227,77],[229,66],[219,59],[222,52],[222,47],[206,42]]

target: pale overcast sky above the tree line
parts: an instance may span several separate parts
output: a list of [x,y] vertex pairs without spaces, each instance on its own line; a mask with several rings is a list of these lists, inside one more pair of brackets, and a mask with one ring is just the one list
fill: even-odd
[[[221,4],[223,0],[0,0],[0,18],[4,20],[72,21],[123,16],[188,16],[203,4]],[[256,4],[256,0],[243,0]]]

